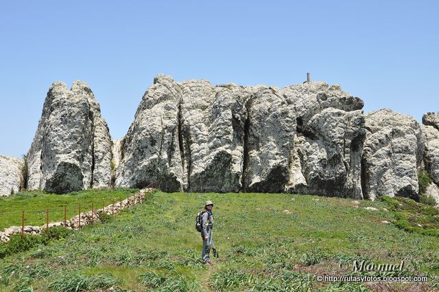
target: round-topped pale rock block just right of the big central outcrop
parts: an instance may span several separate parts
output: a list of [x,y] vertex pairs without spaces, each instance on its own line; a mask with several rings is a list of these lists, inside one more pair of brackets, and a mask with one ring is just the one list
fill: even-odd
[[418,166],[424,153],[420,125],[413,117],[390,109],[366,115],[363,156],[365,196],[406,196],[418,199]]

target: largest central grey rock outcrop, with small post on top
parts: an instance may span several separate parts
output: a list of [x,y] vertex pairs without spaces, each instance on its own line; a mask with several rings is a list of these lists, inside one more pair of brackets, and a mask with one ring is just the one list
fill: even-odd
[[362,106],[323,82],[281,91],[157,76],[121,142],[115,186],[362,198]]

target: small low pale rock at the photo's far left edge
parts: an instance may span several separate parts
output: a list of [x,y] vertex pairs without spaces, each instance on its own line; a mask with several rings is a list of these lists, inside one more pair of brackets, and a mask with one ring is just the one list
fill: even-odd
[[23,184],[24,160],[0,155],[0,196],[19,192]]

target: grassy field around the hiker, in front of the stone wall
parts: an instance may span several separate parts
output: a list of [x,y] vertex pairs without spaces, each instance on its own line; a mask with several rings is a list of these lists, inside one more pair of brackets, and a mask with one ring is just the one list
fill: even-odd
[[[206,199],[215,203],[213,238],[219,251],[211,267],[200,262],[202,240],[194,227],[194,216]],[[88,225],[67,238],[0,260],[0,290],[437,291],[439,237],[398,227],[398,212],[388,201],[156,192],[150,201],[105,224]],[[412,217],[409,221],[419,224]],[[429,229],[438,227],[433,221],[428,224]],[[428,276],[429,281],[316,280],[324,275],[384,275],[354,273],[354,260],[404,260],[403,271],[387,275]]]

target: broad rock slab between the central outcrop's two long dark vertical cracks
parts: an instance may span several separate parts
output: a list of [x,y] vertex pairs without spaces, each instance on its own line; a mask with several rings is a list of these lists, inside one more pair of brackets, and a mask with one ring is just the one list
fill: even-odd
[[242,87],[213,87],[205,80],[182,82],[180,124],[187,190],[238,192],[244,157]]

